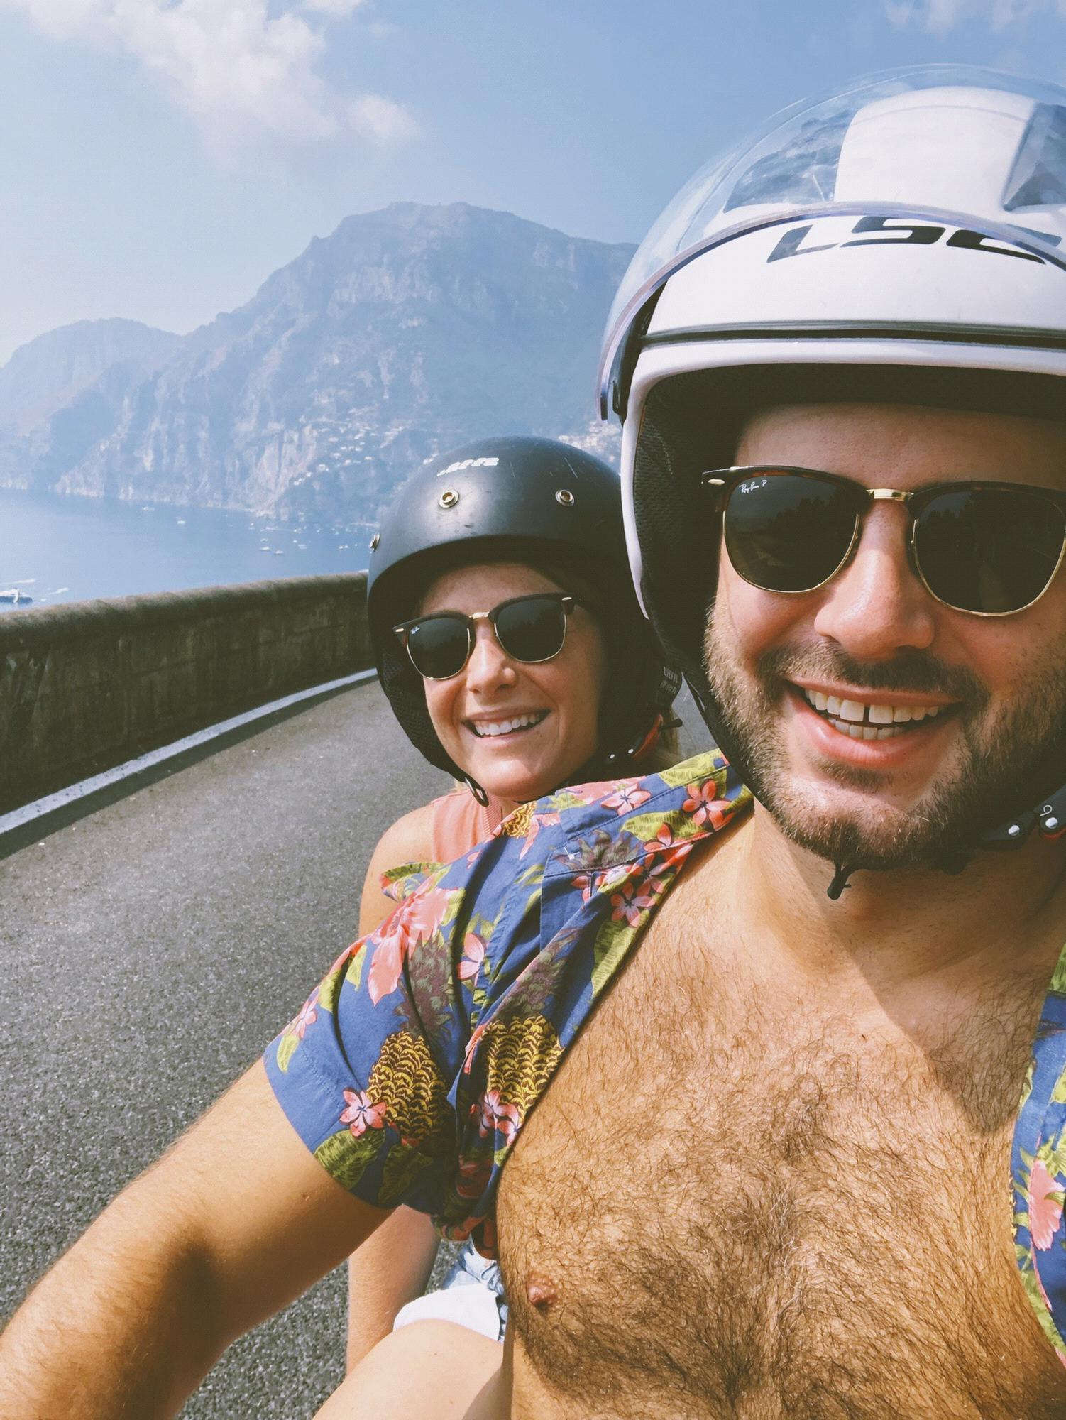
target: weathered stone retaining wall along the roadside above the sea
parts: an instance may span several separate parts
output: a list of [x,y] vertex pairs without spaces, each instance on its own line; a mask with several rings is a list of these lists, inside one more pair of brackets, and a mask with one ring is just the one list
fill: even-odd
[[0,615],[0,814],[372,665],[366,577]]

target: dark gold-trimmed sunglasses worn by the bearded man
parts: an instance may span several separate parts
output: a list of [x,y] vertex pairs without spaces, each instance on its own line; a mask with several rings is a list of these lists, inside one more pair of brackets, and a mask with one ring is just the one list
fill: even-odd
[[813,592],[852,559],[870,506],[901,503],[907,554],[931,596],[1009,616],[1048,591],[1066,545],[1066,493],[1023,483],[935,483],[904,493],[778,464],[703,474],[737,572],[766,592]]

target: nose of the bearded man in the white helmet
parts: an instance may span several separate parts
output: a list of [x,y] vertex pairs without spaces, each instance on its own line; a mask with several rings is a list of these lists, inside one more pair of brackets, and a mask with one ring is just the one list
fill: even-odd
[[857,660],[889,660],[933,642],[934,602],[911,569],[908,538],[906,510],[874,504],[852,561],[822,592],[815,630]]

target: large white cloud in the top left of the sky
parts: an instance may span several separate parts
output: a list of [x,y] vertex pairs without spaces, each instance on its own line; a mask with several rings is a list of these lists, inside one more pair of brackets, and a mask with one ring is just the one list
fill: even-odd
[[55,40],[125,54],[159,75],[213,135],[260,131],[297,139],[345,132],[376,141],[417,131],[400,104],[352,98],[317,72],[331,21],[362,0],[0,0]]

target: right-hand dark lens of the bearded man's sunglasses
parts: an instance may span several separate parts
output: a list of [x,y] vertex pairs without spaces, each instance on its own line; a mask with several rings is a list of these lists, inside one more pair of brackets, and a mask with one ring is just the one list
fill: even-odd
[[1025,488],[937,494],[914,524],[914,557],[934,596],[964,612],[1016,612],[1059,565],[1063,515]]

